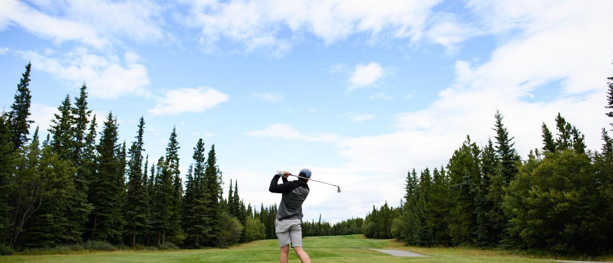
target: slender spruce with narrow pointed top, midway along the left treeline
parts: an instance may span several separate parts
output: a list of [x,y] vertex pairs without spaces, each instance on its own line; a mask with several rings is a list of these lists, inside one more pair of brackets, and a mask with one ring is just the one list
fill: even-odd
[[[145,234],[148,229],[148,200],[145,185],[143,185],[143,134],[145,132],[145,120],[140,117],[139,131],[136,141],[132,143],[129,150],[130,160],[128,162],[128,193],[126,200],[126,224],[127,233],[132,247],[136,245],[137,236]],[[147,168],[145,168],[147,170]],[[145,179],[147,175],[145,175]]]

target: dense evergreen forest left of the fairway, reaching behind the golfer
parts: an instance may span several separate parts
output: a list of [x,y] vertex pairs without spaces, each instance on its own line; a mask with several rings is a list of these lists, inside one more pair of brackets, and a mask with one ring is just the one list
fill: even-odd
[[[199,139],[185,177],[179,170],[177,130],[166,154],[143,156],[145,120],[134,141],[118,138],[112,112],[101,128],[83,83],[74,101],[58,107],[47,137],[30,134],[31,64],[15,100],[0,114],[0,254],[74,245],[79,249],[202,248],[276,238],[276,205],[259,210],[238,195],[227,197],[215,145]],[[186,178],[183,182],[182,178]],[[357,234],[361,222],[305,223],[309,235]]]

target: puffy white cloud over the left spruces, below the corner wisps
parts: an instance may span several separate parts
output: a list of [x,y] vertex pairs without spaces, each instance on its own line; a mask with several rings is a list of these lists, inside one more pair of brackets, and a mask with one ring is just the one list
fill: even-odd
[[[77,48],[63,58],[50,58],[34,51],[15,51],[23,59],[32,61],[32,67],[47,72],[70,86],[80,87],[83,82],[94,97],[116,99],[127,94],[148,96],[145,88],[150,80],[142,64],[121,63],[115,56],[100,56],[86,48]],[[129,54],[129,53],[128,53]],[[126,55],[126,57],[133,55]]]

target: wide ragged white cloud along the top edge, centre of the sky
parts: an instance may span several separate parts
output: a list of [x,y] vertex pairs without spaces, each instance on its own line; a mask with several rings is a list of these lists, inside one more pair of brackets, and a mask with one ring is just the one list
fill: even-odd
[[[283,55],[305,34],[333,44],[355,34],[416,42],[430,9],[440,1],[185,1],[186,25],[202,28],[201,43],[215,50],[228,39],[246,51]],[[183,19],[183,17],[181,17]]]

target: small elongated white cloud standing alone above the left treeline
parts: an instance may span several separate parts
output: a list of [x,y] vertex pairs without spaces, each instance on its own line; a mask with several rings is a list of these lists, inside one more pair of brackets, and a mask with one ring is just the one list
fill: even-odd
[[184,112],[204,112],[216,105],[227,102],[229,96],[214,88],[179,88],[166,91],[158,99],[156,107],[150,110],[154,115],[176,115]]

